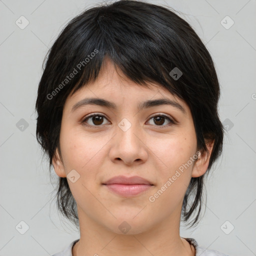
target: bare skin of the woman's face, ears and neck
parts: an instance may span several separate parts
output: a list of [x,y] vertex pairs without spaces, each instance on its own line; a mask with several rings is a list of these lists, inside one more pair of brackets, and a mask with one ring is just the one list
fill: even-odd
[[[213,141],[207,143],[209,154],[200,154],[154,202],[149,201],[149,196],[196,154],[194,124],[184,101],[157,84],[150,83],[149,88],[137,85],[117,71],[106,59],[97,80],[69,95],[63,107],[60,152],[56,149],[53,166],[60,177],[72,169],[80,175],[75,182],[67,178],[80,225],[80,240],[72,254],[195,255],[195,248],[179,235],[181,206],[191,177],[203,175],[207,169]],[[104,98],[117,108],[85,105],[72,112],[72,106],[86,97]],[[137,103],[157,98],[178,102],[185,113],[171,105],[137,111]],[[105,116],[98,122],[87,119],[95,128],[81,122],[92,113]],[[176,124],[167,118],[158,124],[152,116],[160,114],[174,118]],[[118,127],[123,118],[131,123],[126,131]],[[102,185],[117,175],[138,175],[153,186],[136,196],[123,197]],[[125,234],[118,228],[123,221],[130,226]]]

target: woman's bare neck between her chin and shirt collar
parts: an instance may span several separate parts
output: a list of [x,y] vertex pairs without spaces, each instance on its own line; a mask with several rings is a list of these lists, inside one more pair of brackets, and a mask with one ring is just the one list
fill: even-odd
[[173,222],[173,216],[170,216],[167,221],[156,223],[146,232],[118,234],[83,215],[78,207],[77,211],[80,239],[72,249],[72,256],[195,255],[195,248],[179,235],[178,214],[177,221]]

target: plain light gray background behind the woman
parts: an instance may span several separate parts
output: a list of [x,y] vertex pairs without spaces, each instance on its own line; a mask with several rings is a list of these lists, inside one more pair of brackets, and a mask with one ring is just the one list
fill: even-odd
[[[150,2],[182,12],[206,44],[221,84],[220,118],[228,125],[206,183],[204,217],[197,228],[181,226],[180,235],[229,255],[256,255],[255,0]],[[95,3],[0,0],[0,255],[51,255],[79,237],[51,202],[57,176],[53,171],[52,185],[35,139],[34,104],[48,48],[67,21]],[[23,29],[21,15],[29,21]],[[29,226],[24,234],[21,220]]]

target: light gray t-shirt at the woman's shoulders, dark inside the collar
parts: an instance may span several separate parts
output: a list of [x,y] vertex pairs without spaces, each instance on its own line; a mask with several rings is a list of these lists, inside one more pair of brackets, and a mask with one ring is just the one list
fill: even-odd
[[[186,239],[190,244],[192,244],[195,247],[195,256],[228,256],[227,254],[221,253],[216,250],[208,250],[206,248],[199,247],[198,243],[193,238],[184,239]],[[62,250],[61,252],[57,252],[51,256],[72,256],[72,247],[78,240],[79,239],[72,241],[64,250]]]

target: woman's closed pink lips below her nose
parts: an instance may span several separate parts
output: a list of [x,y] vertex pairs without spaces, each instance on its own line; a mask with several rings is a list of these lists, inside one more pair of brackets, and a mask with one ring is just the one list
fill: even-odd
[[125,177],[123,175],[110,178],[103,185],[122,196],[137,195],[152,186],[148,180],[142,177]]

